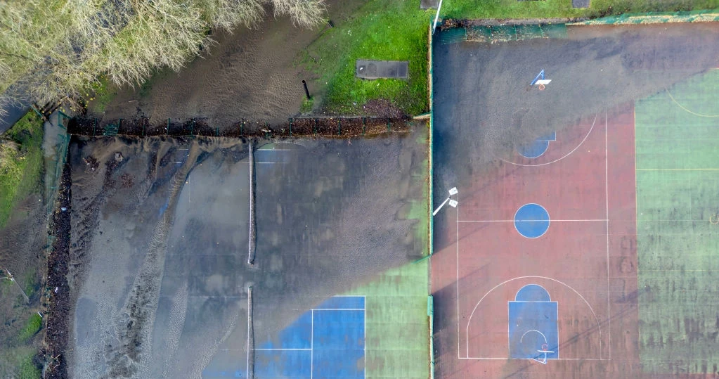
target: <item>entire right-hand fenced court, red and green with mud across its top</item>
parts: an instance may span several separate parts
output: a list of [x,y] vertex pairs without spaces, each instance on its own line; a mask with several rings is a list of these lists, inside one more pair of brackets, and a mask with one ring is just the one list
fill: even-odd
[[434,206],[459,191],[436,376],[715,375],[719,27],[458,34],[433,40]]

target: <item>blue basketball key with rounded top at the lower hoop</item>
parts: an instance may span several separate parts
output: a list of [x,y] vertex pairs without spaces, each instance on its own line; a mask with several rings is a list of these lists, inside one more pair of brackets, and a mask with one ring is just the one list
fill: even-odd
[[529,284],[517,292],[514,301],[508,301],[511,358],[537,360],[545,357],[548,360],[559,358],[557,301],[549,299],[549,293],[544,288]]

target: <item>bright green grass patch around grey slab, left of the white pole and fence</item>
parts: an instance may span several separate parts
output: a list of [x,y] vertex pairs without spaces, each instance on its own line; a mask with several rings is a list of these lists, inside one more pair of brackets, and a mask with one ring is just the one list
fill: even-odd
[[[426,99],[427,25],[433,12],[417,1],[368,1],[352,18],[328,29],[313,42],[303,63],[325,86],[323,108],[363,114],[372,99],[388,99],[409,114],[421,113]],[[358,58],[408,60],[409,78],[364,81],[354,78]]]

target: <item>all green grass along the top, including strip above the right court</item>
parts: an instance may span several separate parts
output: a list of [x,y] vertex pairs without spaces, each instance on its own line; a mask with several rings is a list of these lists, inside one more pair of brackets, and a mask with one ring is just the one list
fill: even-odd
[[[440,15],[454,19],[575,18],[717,7],[719,0],[592,0],[589,9],[572,8],[572,0],[451,0],[444,1]],[[407,114],[428,111],[426,43],[435,12],[419,9],[419,1],[370,0],[347,22],[327,29],[301,57],[324,87],[322,108],[339,114],[365,114],[362,105],[367,101],[387,99]],[[408,60],[409,78],[355,78],[357,59]]]

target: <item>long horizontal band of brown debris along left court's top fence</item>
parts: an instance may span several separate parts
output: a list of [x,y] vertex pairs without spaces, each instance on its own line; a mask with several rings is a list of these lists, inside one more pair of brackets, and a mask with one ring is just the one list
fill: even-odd
[[[155,124],[142,117],[134,120],[102,121],[75,117],[68,124],[68,133],[85,136],[104,135],[111,125],[113,135],[173,137],[355,137],[362,135],[408,132],[411,117],[387,114],[387,117],[296,117],[284,124],[270,126],[265,122],[242,120],[230,127],[211,127],[205,120],[162,120]],[[116,128],[116,130],[115,130]]]

